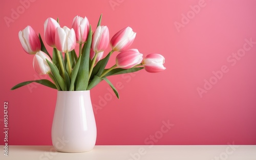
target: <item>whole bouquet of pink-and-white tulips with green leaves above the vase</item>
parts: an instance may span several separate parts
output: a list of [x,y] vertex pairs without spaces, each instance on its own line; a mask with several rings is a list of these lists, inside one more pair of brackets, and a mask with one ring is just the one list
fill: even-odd
[[[28,25],[23,31],[19,31],[19,40],[24,50],[34,55],[35,71],[38,74],[48,74],[52,81],[38,79],[23,82],[11,90],[34,82],[59,91],[83,91],[91,90],[104,80],[119,98],[108,76],[141,69],[153,73],[165,69],[162,55],[150,54],[143,59],[138,49],[129,49],[136,36],[129,26],[117,32],[110,40],[108,26],[100,25],[101,16],[94,33],[87,17],[76,16],[71,29],[67,26],[61,28],[58,19],[48,18],[44,24],[44,36],[46,43],[53,47],[52,56],[40,34],[37,36],[31,26]],[[75,51],[76,43],[79,44],[78,53]],[[109,43],[112,50],[103,58]],[[116,64],[105,68],[114,51],[119,52]]]

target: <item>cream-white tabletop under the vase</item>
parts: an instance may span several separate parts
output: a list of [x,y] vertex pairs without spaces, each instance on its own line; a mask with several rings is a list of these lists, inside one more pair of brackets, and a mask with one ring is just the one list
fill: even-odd
[[8,146],[8,156],[2,152],[0,159],[255,160],[256,145],[95,146],[92,151],[83,153],[56,152],[52,146]]

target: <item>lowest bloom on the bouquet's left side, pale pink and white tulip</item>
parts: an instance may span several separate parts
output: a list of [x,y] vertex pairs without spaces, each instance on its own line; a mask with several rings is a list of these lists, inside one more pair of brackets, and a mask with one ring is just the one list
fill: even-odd
[[49,67],[46,59],[52,62],[50,57],[45,54],[45,52],[41,50],[36,52],[33,60],[33,67],[38,74],[48,74],[51,72],[51,68]]

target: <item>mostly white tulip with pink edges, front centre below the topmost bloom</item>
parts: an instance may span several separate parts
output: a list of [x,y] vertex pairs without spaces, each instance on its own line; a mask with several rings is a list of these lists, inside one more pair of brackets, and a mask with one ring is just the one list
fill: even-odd
[[74,29],[67,26],[57,27],[55,32],[56,48],[62,52],[68,52],[76,47],[76,35]]

